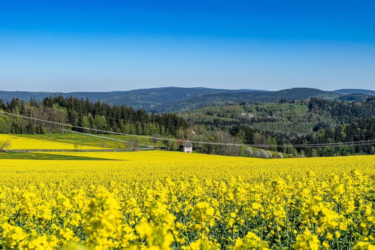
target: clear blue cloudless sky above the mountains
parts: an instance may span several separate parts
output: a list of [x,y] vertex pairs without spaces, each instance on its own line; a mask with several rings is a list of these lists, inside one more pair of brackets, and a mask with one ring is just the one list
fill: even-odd
[[1,1],[0,90],[375,89],[374,1]]

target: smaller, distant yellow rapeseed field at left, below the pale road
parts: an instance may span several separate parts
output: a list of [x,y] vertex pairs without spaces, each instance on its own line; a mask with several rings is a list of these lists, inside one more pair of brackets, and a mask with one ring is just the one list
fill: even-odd
[[[8,149],[74,149],[73,144],[20,137],[14,134],[0,134],[0,140],[9,140]],[[101,149],[93,146],[82,146],[81,149]]]

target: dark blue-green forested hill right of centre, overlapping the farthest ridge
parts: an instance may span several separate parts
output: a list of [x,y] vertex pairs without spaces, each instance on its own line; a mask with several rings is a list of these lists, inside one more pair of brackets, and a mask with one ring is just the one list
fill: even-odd
[[311,88],[293,88],[268,92],[236,92],[236,93],[209,93],[194,96],[182,101],[172,102],[154,107],[155,111],[172,111],[197,108],[220,101],[255,101],[274,102],[279,99],[309,99],[311,97],[336,98],[338,93]]

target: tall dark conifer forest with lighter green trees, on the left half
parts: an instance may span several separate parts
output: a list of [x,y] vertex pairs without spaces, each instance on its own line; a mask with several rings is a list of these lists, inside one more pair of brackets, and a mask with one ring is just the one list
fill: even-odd
[[[114,131],[125,134],[175,136],[180,129],[186,129],[188,123],[173,113],[149,114],[144,109],[134,110],[126,105],[110,105],[108,102],[91,102],[88,98],[67,97],[62,95],[46,97],[39,102],[35,98],[25,101],[13,98],[6,104],[0,99],[0,110],[72,126],[92,128],[76,129],[85,133],[102,133],[95,130]],[[0,114],[0,133],[44,134],[62,133],[64,127],[36,120]]]

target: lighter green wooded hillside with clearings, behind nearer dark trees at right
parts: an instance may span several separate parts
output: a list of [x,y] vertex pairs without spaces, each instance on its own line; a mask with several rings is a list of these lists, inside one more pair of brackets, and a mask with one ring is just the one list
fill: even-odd
[[232,126],[251,127],[266,134],[303,136],[356,119],[375,116],[374,97],[362,102],[321,98],[277,102],[216,102],[179,112],[190,125],[229,131]]

